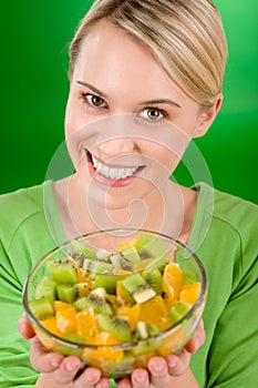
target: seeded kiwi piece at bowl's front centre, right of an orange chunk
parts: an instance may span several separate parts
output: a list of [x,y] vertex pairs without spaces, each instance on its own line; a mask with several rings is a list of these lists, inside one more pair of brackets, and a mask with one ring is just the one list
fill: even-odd
[[122,343],[127,343],[131,340],[130,323],[127,317],[100,314],[97,315],[97,323],[103,331],[110,333],[114,338],[117,338]]

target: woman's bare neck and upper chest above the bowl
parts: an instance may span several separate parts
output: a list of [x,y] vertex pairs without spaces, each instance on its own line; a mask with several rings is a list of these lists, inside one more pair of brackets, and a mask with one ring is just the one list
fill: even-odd
[[[87,187],[86,187],[87,188]],[[197,194],[168,181],[132,200],[122,208],[106,208],[86,197],[76,175],[54,183],[54,193],[68,239],[89,232],[113,228],[145,228],[167,234],[187,243],[195,216]]]

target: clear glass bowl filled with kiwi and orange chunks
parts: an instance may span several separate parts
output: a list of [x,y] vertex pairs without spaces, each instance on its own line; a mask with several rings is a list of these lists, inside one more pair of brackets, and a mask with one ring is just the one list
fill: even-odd
[[47,254],[23,288],[25,313],[50,351],[121,378],[178,353],[205,306],[207,277],[187,246],[144,229],[80,236]]

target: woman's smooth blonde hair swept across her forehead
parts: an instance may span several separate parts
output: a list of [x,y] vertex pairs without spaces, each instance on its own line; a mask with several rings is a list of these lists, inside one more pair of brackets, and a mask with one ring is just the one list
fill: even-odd
[[221,91],[227,42],[211,0],[96,0],[70,45],[70,78],[91,25],[111,21],[147,47],[193,100],[213,105]]

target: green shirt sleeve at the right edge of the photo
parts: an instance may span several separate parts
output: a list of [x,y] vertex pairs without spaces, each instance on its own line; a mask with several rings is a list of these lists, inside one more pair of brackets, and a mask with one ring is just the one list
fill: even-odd
[[258,258],[246,268],[215,329],[207,388],[258,387]]

